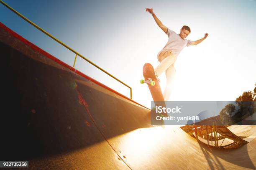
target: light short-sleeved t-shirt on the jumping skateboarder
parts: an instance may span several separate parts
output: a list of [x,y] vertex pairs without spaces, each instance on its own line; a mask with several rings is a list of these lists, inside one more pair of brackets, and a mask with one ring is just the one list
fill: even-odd
[[179,36],[179,34],[175,33],[173,30],[170,30],[169,28],[167,29],[167,35],[169,38],[168,42],[166,43],[164,48],[161,51],[159,51],[157,56],[159,56],[159,54],[162,51],[172,51],[172,53],[178,55],[185,46],[189,46],[193,42],[187,39],[182,39]]

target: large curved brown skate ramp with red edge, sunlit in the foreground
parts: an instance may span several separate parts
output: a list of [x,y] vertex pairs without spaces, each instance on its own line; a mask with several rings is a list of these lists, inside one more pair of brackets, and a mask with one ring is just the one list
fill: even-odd
[[[0,160],[30,169],[255,169],[256,140],[213,150],[0,23]],[[4,72],[2,72],[4,73]]]

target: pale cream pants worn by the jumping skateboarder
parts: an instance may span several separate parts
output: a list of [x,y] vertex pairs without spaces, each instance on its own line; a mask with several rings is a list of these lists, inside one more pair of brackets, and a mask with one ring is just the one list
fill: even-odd
[[162,51],[158,57],[160,64],[155,68],[156,76],[160,76],[164,71],[166,75],[166,87],[164,89],[164,101],[168,101],[173,89],[173,80],[176,74],[174,63],[177,60],[177,55],[172,51]]

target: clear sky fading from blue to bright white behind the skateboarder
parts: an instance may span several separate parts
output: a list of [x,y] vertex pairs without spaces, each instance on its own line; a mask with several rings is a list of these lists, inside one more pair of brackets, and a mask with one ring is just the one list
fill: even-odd
[[[167,36],[145,8],[179,33],[189,25],[192,41],[175,64],[176,89],[171,100],[232,101],[256,82],[255,0],[4,0],[22,15],[133,88],[133,99],[150,106],[143,78],[146,62],[157,66],[156,54]],[[0,4],[0,21],[9,28],[73,65],[74,54]],[[76,68],[129,96],[118,81],[78,59]],[[161,87],[165,76],[161,75]]]

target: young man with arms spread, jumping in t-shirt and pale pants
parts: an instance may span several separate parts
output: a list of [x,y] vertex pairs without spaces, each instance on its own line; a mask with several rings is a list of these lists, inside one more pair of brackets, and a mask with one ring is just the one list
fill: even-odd
[[[190,41],[186,38],[190,33],[190,28],[184,25],[180,29],[180,33],[177,34],[173,30],[170,30],[166,26],[164,26],[161,21],[156,17],[156,14],[153,12],[153,8],[146,8],[146,11],[150,13],[154,20],[156,21],[157,25],[168,35],[169,39],[164,48],[159,51],[157,54],[157,59],[160,64],[156,67],[156,76],[160,76],[164,71],[166,75],[166,88],[164,89],[164,100],[168,101],[169,96],[172,90],[172,81],[174,79],[176,70],[174,68],[174,63],[177,59],[177,56],[182,51],[185,46],[194,46],[207,38],[208,34],[205,33],[205,37],[201,38],[197,41]],[[160,80],[159,80],[160,81]]]

